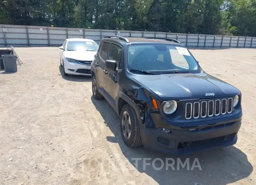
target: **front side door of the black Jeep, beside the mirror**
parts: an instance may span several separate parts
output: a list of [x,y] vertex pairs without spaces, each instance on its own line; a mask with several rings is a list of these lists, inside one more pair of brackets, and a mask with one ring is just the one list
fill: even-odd
[[[103,88],[106,91],[105,96],[108,97],[110,103],[115,105],[115,100],[117,96],[117,92],[119,91],[119,78],[121,72],[122,64],[122,51],[123,48],[120,45],[112,43],[110,46],[110,52],[108,56],[108,60],[115,60],[116,61],[116,70],[115,71],[107,71],[105,69],[103,73],[104,85]],[[107,99],[106,97],[106,99]]]

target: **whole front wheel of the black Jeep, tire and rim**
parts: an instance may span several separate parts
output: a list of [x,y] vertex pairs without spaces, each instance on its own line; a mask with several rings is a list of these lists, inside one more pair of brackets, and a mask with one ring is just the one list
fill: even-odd
[[132,106],[125,104],[120,115],[120,129],[124,143],[128,147],[137,147],[142,144],[139,121]]

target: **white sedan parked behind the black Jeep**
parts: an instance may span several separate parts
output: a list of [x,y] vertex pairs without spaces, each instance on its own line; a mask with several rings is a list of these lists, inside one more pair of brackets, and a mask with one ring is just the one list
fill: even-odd
[[68,38],[60,49],[60,65],[63,74],[90,76],[90,66],[94,60],[98,45],[90,39]]

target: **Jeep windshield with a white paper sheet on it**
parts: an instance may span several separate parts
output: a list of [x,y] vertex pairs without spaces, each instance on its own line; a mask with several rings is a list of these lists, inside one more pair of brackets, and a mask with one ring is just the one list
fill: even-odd
[[157,74],[172,72],[198,72],[197,61],[186,47],[143,44],[130,45],[128,48],[128,65],[130,69],[149,71]]

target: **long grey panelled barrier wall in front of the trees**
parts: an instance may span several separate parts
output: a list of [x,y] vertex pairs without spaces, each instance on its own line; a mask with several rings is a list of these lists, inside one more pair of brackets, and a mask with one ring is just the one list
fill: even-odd
[[102,38],[109,35],[173,38],[187,47],[256,47],[256,37],[0,24],[0,46],[60,46],[67,38],[88,38],[99,43]]

